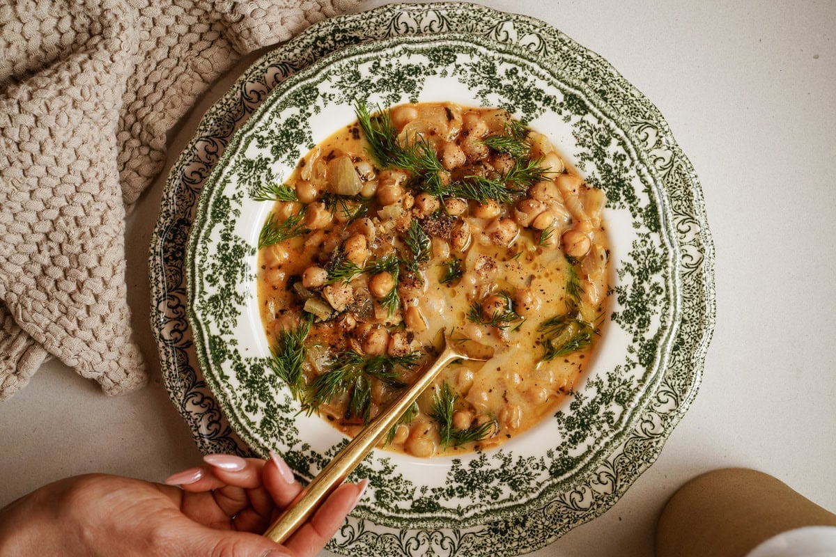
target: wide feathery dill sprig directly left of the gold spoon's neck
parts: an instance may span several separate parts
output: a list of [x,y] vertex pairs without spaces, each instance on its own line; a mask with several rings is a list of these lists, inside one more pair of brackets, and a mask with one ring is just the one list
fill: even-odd
[[334,397],[349,394],[349,413],[363,418],[367,423],[371,418],[371,380],[378,379],[393,388],[403,388],[396,367],[411,369],[415,366],[419,352],[410,352],[404,356],[364,356],[354,350],[339,354],[331,363],[329,370],[317,376],[308,386],[310,408],[318,408],[329,403]]

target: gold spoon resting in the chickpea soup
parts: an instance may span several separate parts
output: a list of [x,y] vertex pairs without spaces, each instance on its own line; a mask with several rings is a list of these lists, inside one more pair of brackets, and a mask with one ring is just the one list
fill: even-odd
[[455,343],[444,335],[444,350],[421,377],[395,400],[394,403],[373,419],[354,439],[352,439],[337,456],[323,468],[322,472],[311,480],[311,483],[293,499],[288,509],[276,519],[264,533],[269,539],[278,544],[284,543],[299,526],[304,524],[329,494],[337,489],[360,462],[370,453],[371,449],[380,441],[400,417],[410,408],[415,399],[435,381],[438,373],[456,359],[484,361],[487,354],[467,354],[457,350]]

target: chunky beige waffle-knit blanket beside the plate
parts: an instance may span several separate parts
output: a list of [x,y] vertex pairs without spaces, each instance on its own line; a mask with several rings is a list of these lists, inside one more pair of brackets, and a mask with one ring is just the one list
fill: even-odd
[[58,357],[145,384],[125,215],[166,131],[242,54],[360,0],[11,0],[0,5],[0,400]]

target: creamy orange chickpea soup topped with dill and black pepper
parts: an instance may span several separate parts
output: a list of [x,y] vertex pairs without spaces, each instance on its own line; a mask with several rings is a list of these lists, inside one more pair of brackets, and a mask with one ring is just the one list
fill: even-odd
[[453,342],[386,438],[417,457],[530,428],[584,372],[608,289],[604,194],[501,109],[401,104],[312,149],[259,240],[271,367],[303,408],[357,433]]

